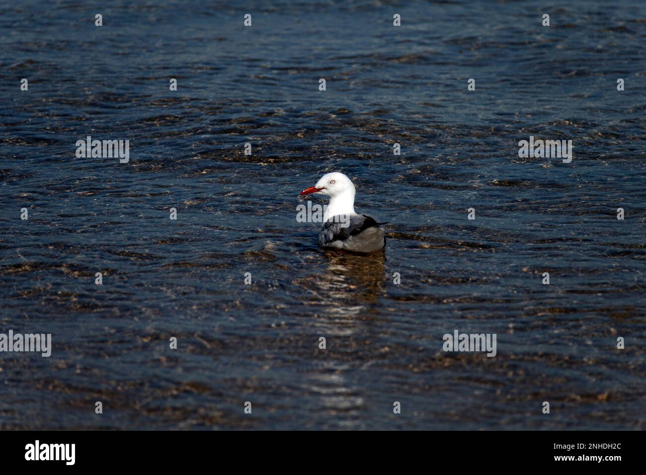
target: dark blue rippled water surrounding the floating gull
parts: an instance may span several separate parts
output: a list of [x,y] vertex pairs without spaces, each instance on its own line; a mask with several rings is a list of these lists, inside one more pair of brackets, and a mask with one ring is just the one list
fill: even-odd
[[[0,30],[0,332],[54,343],[0,354],[0,428],[646,427],[639,3],[23,1]],[[328,171],[383,256],[296,221]]]

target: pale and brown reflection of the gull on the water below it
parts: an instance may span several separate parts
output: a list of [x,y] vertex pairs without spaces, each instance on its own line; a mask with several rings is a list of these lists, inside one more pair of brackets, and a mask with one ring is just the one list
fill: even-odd
[[313,412],[342,414],[342,420],[329,428],[362,429],[366,428],[362,416],[366,390],[353,374],[373,362],[364,342],[378,332],[371,322],[380,313],[380,297],[386,294],[386,257],[383,252],[359,255],[326,250],[324,259],[326,268],[307,280],[316,295],[311,303],[325,309],[317,311],[317,335],[325,335],[328,344],[333,342],[335,357],[318,359],[317,370],[304,378],[303,385],[319,396],[320,405]]

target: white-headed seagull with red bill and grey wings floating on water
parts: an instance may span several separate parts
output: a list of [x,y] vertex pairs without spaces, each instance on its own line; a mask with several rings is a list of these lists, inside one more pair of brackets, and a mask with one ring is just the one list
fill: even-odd
[[380,251],[386,246],[386,235],[374,218],[355,213],[355,185],[343,173],[324,174],[314,186],[304,189],[300,196],[329,196],[323,215],[323,227],[318,234],[322,248],[345,249],[359,253]]

